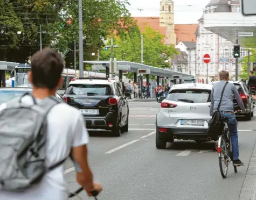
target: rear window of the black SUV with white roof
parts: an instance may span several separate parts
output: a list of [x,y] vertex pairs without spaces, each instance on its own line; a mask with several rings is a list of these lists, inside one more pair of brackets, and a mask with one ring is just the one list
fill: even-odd
[[112,95],[109,85],[104,84],[70,84],[67,95]]

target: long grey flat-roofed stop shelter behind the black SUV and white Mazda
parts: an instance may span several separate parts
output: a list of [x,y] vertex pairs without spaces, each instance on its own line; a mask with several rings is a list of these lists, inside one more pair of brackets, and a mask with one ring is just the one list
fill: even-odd
[[[184,74],[180,72],[174,72],[170,69],[162,69],[158,67],[153,67],[149,65],[144,65],[141,63],[130,62],[130,61],[114,61],[116,62],[116,73],[119,74],[119,78],[122,78],[123,72],[133,72],[134,82],[137,81],[138,74],[146,74],[147,84],[149,83],[149,75],[156,76],[157,84],[160,83],[160,78],[170,78],[172,80],[178,80],[182,83],[182,80],[192,80],[195,79],[194,76],[189,74]],[[84,63],[92,64],[92,70],[106,70],[106,77],[109,77],[109,66],[110,61],[84,61]],[[114,72],[115,73],[115,72]]]

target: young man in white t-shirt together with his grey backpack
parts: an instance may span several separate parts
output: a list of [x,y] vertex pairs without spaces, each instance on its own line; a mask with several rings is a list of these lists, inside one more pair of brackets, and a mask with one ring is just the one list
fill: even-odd
[[32,95],[0,105],[0,199],[67,200],[64,161],[71,158],[88,196],[102,190],[87,160],[88,133],[80,111],[55,98],[63,59],[45,48],[31,58]]

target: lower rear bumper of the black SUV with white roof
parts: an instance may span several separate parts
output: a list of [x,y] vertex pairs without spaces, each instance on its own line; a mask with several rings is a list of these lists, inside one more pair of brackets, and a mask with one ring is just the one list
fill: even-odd
[[117,112],[109,112],[105,117],[84,116],[84,120],[88,129],[111,130],[117,124]]

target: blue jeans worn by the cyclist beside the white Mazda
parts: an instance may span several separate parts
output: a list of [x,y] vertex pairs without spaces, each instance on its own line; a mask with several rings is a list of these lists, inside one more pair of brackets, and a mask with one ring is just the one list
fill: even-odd
[[237,135],[237,119],[234,113],[227,113],[225,111],[220,111],[223,117],[229,118],[229,122],[227,123],[227,127],[229,127],[230,135],[231,135],[231,144],[232,144],[232,153],[233,160],[239,159],[239,149],[238,149],[238,135]]

